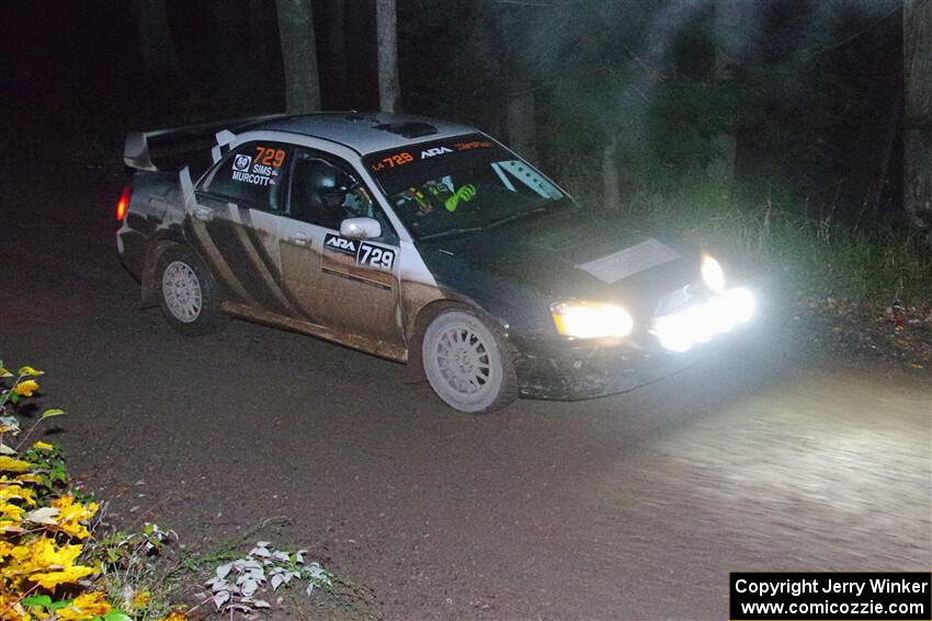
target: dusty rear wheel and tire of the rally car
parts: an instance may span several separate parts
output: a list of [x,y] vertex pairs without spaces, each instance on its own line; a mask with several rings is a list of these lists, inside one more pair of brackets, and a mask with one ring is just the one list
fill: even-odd
[[220,312],[219,287],[194,252],[172,245],[156,265],[156,292],[162,314],[187,336],[216,331],[226,317]]

